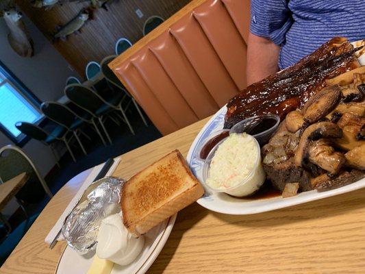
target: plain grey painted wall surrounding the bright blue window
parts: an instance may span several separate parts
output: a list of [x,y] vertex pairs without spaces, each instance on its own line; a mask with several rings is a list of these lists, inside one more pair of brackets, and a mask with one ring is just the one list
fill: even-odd
[[[34,56],[23,58],[12,50],[7,38],[8,27],[3,18],[0,18],[0,60],[41,101],[55,101],[63,96],[66,78],[71,75],[79,76],[24,15],[23,21],[34,41]],[[0,132],[0,147],[10,144],[12,141]],[[36,163],[43,176],[55,165],[49,148],[37,140],[30,140],[23,149]]]

